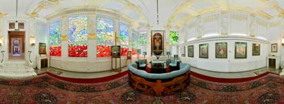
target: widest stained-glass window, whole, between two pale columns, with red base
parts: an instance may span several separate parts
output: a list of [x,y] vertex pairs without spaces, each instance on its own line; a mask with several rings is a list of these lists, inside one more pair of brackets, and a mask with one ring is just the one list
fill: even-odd
[[68,17],[69,57],[87,57],[88,17]]

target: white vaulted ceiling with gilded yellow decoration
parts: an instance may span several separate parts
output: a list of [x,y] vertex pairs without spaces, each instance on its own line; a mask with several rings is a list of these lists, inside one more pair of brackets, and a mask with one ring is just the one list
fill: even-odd
[[[0,0],[0,18],[16,16],[17,0]],[[157,26],[156,0],[18,0],[19,17],[42,17],[76,7],[112,10],[141,26]],[[175,28],[202,13],[246,10],[267,19],[284,14],[284,0],[159,0],[159,25]]]

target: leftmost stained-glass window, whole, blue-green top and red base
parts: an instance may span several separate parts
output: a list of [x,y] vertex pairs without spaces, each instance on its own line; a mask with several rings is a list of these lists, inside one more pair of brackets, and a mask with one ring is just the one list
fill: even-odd
[[50,23],[49,40],[50,56],[61,56],[61,21]]

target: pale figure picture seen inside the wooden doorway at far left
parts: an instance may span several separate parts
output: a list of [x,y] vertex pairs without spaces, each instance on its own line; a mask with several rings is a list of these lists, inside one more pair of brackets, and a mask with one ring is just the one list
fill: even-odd
[[21,56],[21,38],[12,38],[12,56]]

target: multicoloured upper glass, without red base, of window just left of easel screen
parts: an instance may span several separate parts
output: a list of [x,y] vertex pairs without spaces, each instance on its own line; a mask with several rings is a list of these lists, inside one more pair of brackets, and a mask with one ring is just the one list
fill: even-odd
[[97,43],[113,43],[113,19],[97,17]]

